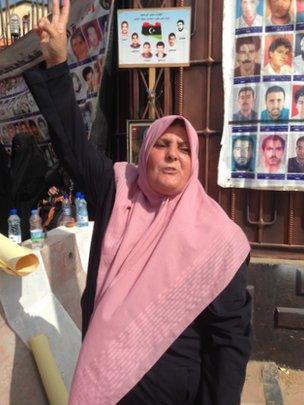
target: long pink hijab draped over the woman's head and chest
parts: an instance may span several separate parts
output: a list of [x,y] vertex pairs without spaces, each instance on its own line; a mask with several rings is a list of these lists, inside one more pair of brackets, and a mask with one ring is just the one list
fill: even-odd
[[[147,182],[156,140],[184,121],[191,175],[175,197]],[[95,308],[75,371],[70,405],[116,404],[228,285],[248,241],[198,180],[198,138],[188,120],[155,121],[139,165],[115,164],[116,197],[104,237]]]

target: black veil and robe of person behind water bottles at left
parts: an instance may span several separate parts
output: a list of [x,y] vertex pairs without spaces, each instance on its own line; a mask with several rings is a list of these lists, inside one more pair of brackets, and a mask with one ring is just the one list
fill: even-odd
[[12,142],[12,200],[21,219],[22,240],[30,237],[29,217],[45,192],[47,162],[35,138],[27,133],[15,135]]

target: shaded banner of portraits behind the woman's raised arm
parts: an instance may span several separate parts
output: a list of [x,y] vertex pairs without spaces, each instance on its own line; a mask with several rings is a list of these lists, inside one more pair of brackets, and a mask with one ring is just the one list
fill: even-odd
[[[101,0],[79,0],[71,3],[67,30],[68,64],[87,136],[96,113],[108,43],[107,28],[112,18],[111,3]],[[25,47],[26,44],[28,48]],[[8,61],[15,61],[15,65],[9,66]],[[24,70],[40,61],[39,41],[33,32],[1,52],[0,140],[10,153],[16,133],[32,134],[51,167],[56,157],[47,124],[22,78]]]

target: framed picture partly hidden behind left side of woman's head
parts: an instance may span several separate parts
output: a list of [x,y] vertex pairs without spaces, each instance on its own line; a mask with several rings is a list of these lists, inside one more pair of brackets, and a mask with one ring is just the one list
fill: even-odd
[[127,147],[128,162],[138,163],[139,150],[143,137],[153,120],[128,120],[127,121]]

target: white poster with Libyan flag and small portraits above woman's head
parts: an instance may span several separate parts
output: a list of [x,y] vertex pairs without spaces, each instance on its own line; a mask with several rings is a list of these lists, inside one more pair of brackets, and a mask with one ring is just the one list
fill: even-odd
[[189,66],[191,7],[118,10],[119,67]]

